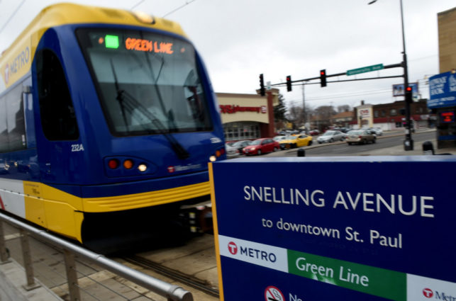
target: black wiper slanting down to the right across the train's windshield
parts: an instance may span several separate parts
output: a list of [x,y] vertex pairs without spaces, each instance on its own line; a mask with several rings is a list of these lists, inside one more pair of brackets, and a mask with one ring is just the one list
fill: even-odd
[[122,115],[123,115],[123,120],[126,124],[127,130],[128,130],[128,123],[126,120],[126,112],[125,110],[128,110],[128,113],[134,117],[133,110],[135,108],[141,108],[143,111],[141,112],[143,115],[145,115],[149,120],[152,121],[152,123],[157,127],[158,132],[165,136],[166,140],[168,140],[169,144],[171,144],[171,148],[174,150],[174,152],[177,154],[177,157],[179,159],[187,159],[190,157],[189,152],[187,152],[187,149],[184,149],[182,147],[182,144],[180,144],[176,138],[174,138],[170,134],[170,130],[163,125],[163,123],[155,117],[154,114],[152,114],[147,108],[143,106],[142,103],[136,100],[130,93],[127,91],[120,89],[119,84],[117,81],[117,76],[116,76],[116,71],[114,70],[113,63],[111,60],[111,68],[113,70],[113,75],[114,75],[114,84],[116,85],[116,93],[117,97],[116,99],[118,100],[119,104],[121,105],[121,110],[122,110]]

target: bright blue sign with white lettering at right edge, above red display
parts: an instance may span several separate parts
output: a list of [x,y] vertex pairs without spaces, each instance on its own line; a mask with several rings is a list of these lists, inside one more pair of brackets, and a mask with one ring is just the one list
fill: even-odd
[[456,106],[456,74],[445,72],[429,78],[428,108]]

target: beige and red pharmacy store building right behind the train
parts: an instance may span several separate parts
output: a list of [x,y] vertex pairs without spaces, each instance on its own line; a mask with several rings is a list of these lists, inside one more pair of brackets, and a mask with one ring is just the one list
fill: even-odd
[[267,96],[216,93],[226,142],[274,137],[274,90]]

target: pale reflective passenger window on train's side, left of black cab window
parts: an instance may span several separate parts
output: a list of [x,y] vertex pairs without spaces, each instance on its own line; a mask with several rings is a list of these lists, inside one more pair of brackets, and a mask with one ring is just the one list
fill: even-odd
[[6,125],[9,151],[26,148],[26,123],[23,110],[22,85],[6,94]]

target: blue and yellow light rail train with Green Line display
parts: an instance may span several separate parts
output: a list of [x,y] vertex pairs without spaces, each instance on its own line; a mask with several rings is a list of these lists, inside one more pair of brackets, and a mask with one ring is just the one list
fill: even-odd
[[225,158],[206,68],[177,23],[55,4],[0,57],[1,210],[83,244],[132,225],[140,237],[206,198],[207,163]]

